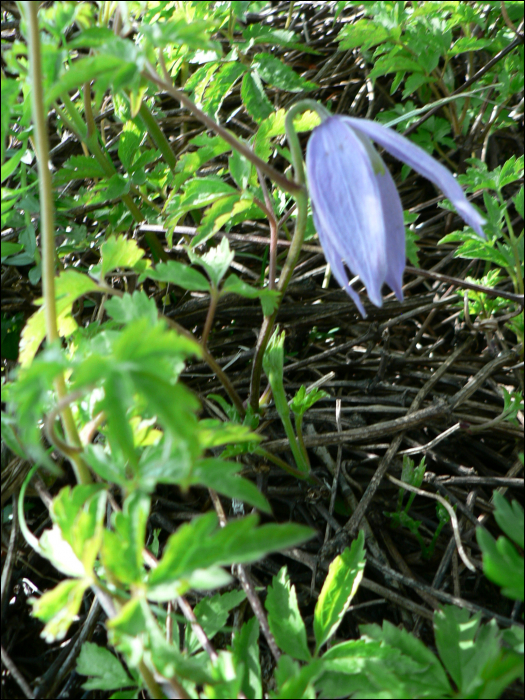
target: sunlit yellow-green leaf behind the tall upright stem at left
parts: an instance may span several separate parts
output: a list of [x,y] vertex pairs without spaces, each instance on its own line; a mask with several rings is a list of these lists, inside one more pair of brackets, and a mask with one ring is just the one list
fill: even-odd
[[[76,270],[66,270],[57,277],[55,282],[55,296],[58,332],[63,338],[66,338],[77,328],[77,324],[71,316],[73,302],[84,294],[96,292],[97,290],[98,286],[96,282],[87,275],[83,275]],[[37,303],[42,304],[42,299],[39,299]],[[22,367],[31,363],[45,335],[46,320],[44,307],[42,306],[42,308],[29,318],[22,331],[19,355]]]

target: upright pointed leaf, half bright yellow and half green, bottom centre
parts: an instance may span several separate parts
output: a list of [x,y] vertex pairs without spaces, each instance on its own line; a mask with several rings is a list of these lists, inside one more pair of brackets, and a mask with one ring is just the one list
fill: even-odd
[[314,611],[316,654],[320,647],[335,634],[354,597],[365,568],[364,534],[330,564],[328,576]]

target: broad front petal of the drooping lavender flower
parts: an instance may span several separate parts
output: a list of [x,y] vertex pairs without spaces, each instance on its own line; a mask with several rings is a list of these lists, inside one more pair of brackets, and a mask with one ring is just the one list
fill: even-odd
[[[343,273],[346,279],[344,260],[361,278],[370,301],[381,306],[386,232],[381,192],[365,147],[340,117],[330,117],[310,136],[306,169],[316,225],[323,248],[330,249],[334,275],[340,284]],[[348,283],[343,286],[348,291]]]

